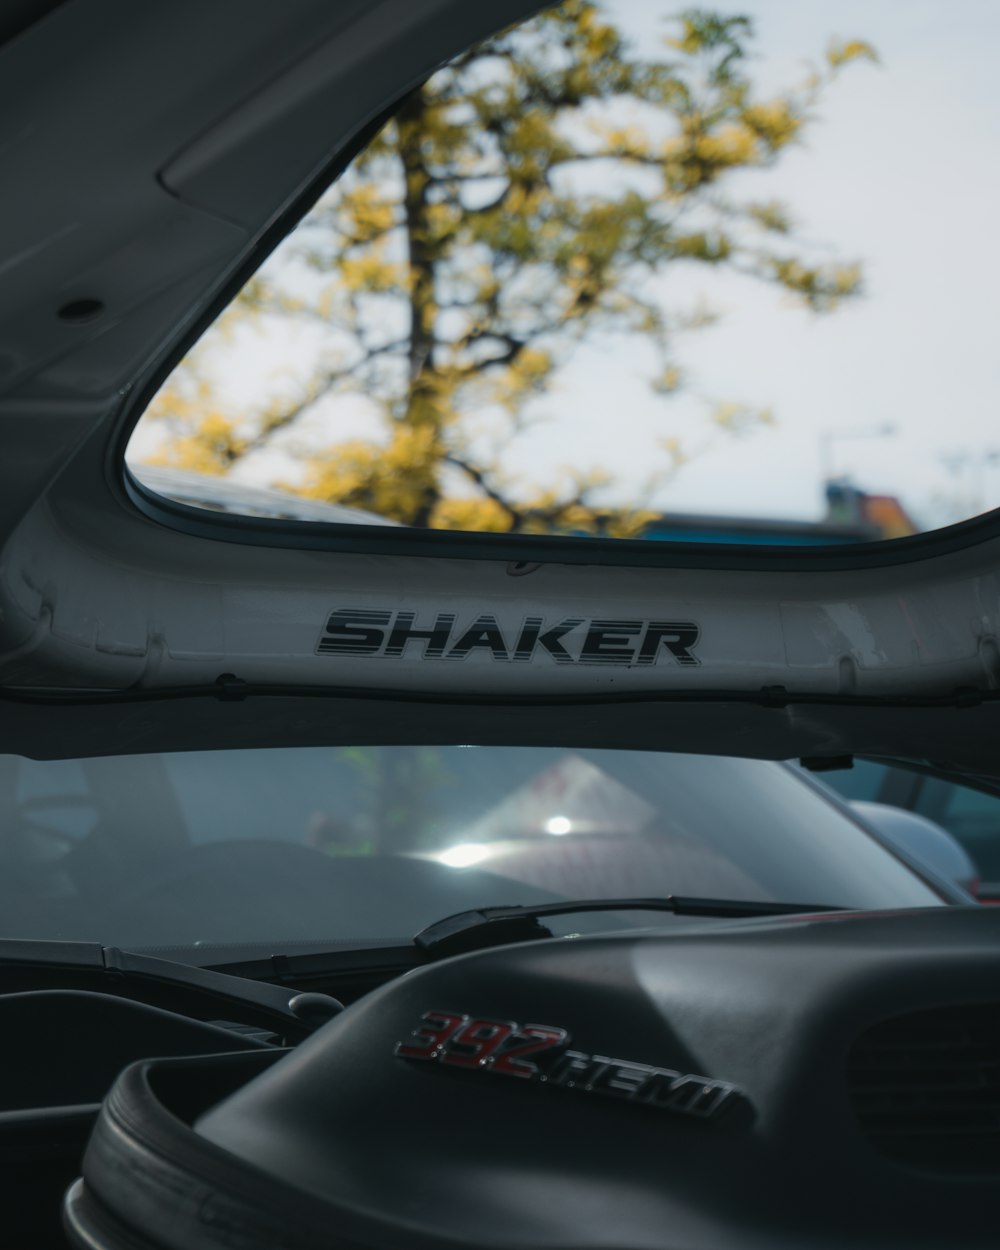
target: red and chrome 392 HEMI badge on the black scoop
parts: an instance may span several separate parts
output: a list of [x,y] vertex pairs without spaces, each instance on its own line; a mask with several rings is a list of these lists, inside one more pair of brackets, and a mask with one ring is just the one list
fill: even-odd
[[410,1040],[396,1044],[400,1059],[544,1081],[701,1119],[719,1115],[744,1096],[729,1081],[568,1050],[570,1035],[551,1025],[484,1020],[454,1011],[425,1011],[421,1021]]

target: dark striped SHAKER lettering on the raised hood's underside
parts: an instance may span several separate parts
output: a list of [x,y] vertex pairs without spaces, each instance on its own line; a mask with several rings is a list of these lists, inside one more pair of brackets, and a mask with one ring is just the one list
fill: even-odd
[[700,662],[691,654],[699,636],[694,621],[584,616],[546,621],[544,616],[525,616],[511,628],[501,626],[489,612],[459,624],[455,612],[418,620],[416,612],[338,608],[320,634],[316,654],[385,660],[421,655],[425,660],[465,660],[482,655],[499,664],[528,664],[540,656],[555,664],[640,666],[668,655],[675,664],[690,666]]

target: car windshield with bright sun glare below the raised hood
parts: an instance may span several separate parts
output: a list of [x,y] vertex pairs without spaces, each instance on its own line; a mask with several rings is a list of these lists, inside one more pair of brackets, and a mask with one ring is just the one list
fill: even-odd
[[[468,908],[568,898],[941,901],[785,765],[650,751],[0,756],[0,936],[200,962],[406,941]],[[595,920],[615,922],[650,918]]]

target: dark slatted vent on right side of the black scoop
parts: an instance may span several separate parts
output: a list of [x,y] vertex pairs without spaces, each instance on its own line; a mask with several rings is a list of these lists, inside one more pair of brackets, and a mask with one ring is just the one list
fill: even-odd
[[1000,1172],[1000,1002],[886,1020],[854,1044],[848,1079],[882,1154],[934,1171]]

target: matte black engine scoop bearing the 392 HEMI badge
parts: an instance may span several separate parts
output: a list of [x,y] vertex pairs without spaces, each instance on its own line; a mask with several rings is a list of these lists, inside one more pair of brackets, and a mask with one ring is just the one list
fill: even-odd
[[995,1248],[1000,1175],[888,1156],[850,1060],[908,1012],[999,1011],[998,939],[1000,909],[940,908],[432,964],[245,1080],[128,1070],[68,1226],[89,1250]]

